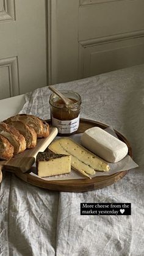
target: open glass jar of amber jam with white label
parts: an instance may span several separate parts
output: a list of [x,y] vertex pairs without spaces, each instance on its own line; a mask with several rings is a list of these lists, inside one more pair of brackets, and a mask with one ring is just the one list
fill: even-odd
[[71,135],[76,133],[79,127],[79,114],[81,109],[81,96],[73,91],[62,90],[62,94],[73,101],[67,106],[55,93],[49,98],[51,123],[57,127],[61,135]]

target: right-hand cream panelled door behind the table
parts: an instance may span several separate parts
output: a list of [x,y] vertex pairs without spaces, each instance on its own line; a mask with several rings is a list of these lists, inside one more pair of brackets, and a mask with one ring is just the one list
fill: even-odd
[[144,0],[51,0],[49,82],[144,63],[143,13]]

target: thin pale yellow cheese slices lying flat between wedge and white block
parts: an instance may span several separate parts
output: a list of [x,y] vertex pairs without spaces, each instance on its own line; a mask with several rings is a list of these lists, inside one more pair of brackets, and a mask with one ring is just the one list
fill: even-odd
[[109,165],[101,158],[86,150],[70,138],[60,138],[49,145],[49,149],[55,153],[64,153],[71,155],[71,166],[85,176],[95,174],[95,170],[108,171]]

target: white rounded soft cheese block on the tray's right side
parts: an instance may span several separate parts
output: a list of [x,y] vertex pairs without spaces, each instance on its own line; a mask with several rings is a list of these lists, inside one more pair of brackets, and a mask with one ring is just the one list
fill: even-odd
[[128,154],[127,145],[99,127],[86,130],[82,145],[109,163],[117,163]]

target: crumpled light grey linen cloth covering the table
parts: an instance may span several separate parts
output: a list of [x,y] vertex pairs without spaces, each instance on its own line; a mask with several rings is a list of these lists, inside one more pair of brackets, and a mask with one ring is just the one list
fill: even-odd
[[[9,172],[1,183],[0,255],[144,255],[144,65],[57,85],[78,92],[81,117],[127,137],[139,164],[111,186],[89,192],[37,188]],[[48,87],[26,94],[21,113],[49,119]],[[80,203],[131,203],[131,216],[81,216]]]

